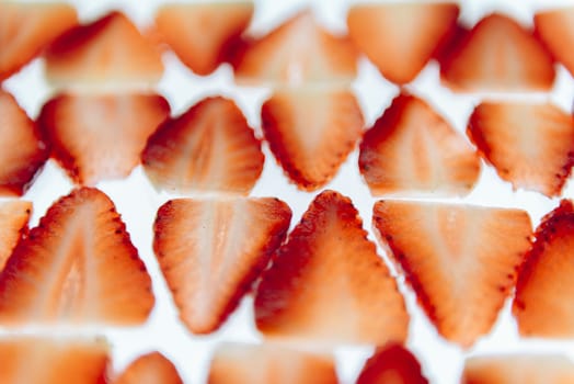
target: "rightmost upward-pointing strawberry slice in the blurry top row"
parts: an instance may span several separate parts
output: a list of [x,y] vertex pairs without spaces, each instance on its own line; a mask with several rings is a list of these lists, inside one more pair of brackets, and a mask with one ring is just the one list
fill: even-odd
[[445,56],[440,75],[456,91],[548,91],[554,82],[552,57],[502,14],[482,19]]

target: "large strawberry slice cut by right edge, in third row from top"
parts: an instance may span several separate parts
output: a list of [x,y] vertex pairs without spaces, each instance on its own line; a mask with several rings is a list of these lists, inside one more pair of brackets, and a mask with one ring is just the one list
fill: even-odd
[[[524,336],[574,336],[574,206],[563,200],[542,218],[521,267],[513,313]],[[551,316],[549,315],[551,314]]]

